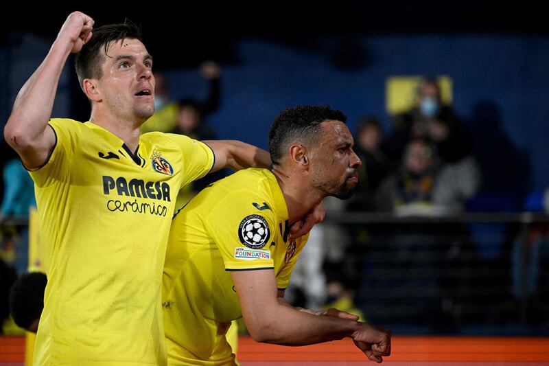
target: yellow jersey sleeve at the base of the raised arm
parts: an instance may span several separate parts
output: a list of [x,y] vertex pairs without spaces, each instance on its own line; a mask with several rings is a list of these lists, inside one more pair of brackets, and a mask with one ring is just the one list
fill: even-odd
[[81,122],[64,118],[50,119],[49,127],[56,135],[54,149],[44,165],[29,171],[38,187],[46,187],[55,181],[67,181],[75,147],[80,138],[79,130],[84,128]]

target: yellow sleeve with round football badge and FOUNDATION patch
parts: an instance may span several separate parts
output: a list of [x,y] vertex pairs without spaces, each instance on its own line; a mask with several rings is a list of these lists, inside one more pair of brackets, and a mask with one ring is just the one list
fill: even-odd
[[274,268],[270,243],[276,219],[270,209],[260,211],[253,205],[258,200],[250,190],[233,191],[207,217],[209,236],[220,250],[226,271]]

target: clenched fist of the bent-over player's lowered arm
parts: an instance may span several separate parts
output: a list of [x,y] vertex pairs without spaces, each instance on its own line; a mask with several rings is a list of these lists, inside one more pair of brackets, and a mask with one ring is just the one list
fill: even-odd
[[390,332],[366,323],[360,325],[351,337],[353,342],[370,361],[382,363],[382,356],[390,355]]

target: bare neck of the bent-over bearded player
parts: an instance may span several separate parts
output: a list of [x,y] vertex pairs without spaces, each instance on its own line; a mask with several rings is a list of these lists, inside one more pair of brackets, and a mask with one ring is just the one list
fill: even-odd
[[277,177],[286,207],[288,207],[290,224],[301,220],[307,212],[323,200],[322,192],[310,187],[306,177],[299,176],[298,172],[285,172],[277,167],[272,168],[271,171]]

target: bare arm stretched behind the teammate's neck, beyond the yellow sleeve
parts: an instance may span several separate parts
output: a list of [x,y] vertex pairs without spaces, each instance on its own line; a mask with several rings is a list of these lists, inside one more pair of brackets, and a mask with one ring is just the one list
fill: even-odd
[[263,149],[235,140],[205,140],[215,155],[211,172],[223,168],[241,170],[246,168],[270,168],[270,155]]

